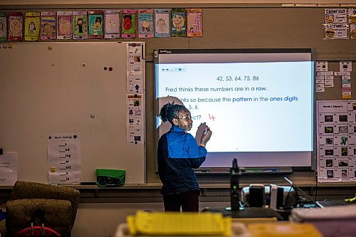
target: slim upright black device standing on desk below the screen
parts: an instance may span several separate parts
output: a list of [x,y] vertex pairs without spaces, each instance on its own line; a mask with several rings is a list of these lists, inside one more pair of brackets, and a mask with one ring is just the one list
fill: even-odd
[[240,195],[239,195],[239,179],[240,171],[237,164],[237,159],[232,161],[232,167],[230,169],[230,202],[231,211],[240,210]]

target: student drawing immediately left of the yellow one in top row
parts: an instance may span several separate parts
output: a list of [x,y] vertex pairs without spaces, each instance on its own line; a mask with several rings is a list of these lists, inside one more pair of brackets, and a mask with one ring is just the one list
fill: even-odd
[[22,12],[9,12],[9,41],[23,40],[23,14]]

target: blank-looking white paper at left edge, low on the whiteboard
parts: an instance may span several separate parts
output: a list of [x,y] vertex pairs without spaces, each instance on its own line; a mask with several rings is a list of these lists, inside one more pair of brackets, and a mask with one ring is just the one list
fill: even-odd
[[0,155],[0,186],[14,186],[17,181],[17,153]]

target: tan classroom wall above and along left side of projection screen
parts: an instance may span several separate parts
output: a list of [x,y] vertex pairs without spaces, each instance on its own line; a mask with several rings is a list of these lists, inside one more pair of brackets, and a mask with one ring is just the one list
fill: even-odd
[[[237,1],[234,1],[236,4]],[[146,158],[147,158],[147,183],[159,183],[155,174],[155,142],[154,142],[154,68],[153,50],[158,48],[314,48],[317,60],[330,60],[330,68],[337,68],[339,60],[356,60],[355,40],[324,40],[324,9],[325,7],[313,6],[281,6],[273,1],[270,4],[244,6],[236,4],[230,8],[224,4],[211,7],[209,4],[199,4],[203,9],[203,37],[187,38],[135,38],[122,41],[145,41],[146,43]],[[284,1],[283,1],[284,2]],[[33,1],[38,4],[38,9],[81,9],[77,4],[66,5],[66,1],[55,1],[53,4],[41,5],[43,1]],[[130,5],[127,7],[157,7],[155,1],[148,4]],[[225,3],[228,3],[226,1]],[[230,3],[230,2],[229,2]],[[315,1],[318,3],[318,1]],[[26,1],[21,4],[10,5],[10,1],[0,4],[0,9],[12,11],[17,9],[26,11]],[[56,5],[62,4],[62,5]],[[110,1],[105,1],[100,9],[108,7]],[[99,4],[100,6],[100,4]],[[122,8],[125,1],[120,1],[110,7]],[[349,4],[347,6],[352,6]],[[12,10],[9,7],[13,8]],[[176,5],[164,4],[164,7]],[[186,7],[186,4],[179,4]],[[329,6],[330,7],[330,6]],[[104,40],[103,40],[104,41]],[[354,70],[355,71],[355,70]],[[355,76],[355,75],[353,75]],[[353,95],[355,93],[352,93]],[[340,100],[341,83],[335,80],[335,88],[328,88],[325,93],[318,93],[317,100]],[[208,147],[209,149],[209,147]],[[314,162],[315,163],[315,162]]]

